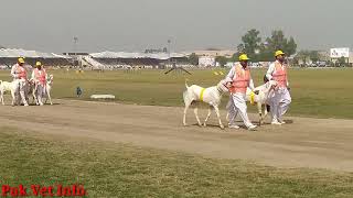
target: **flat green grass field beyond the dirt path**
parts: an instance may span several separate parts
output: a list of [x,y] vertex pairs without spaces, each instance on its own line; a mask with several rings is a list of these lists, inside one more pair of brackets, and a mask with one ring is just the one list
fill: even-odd
[[[226,73],[227,70],[223,70]],[[213,86],[224,76],[212,70],[192,70],[192,76],[164,75],[163,70],[141,70],[136,74],[120,72],[52,72],[55,82],[54,98],[76,99],[75,88],[84,89],[82,99],[89,100],[93,94],[113,94],[117,102],[151,106],[183,106],[184,79],[189,84]],[[260,85],[265,70],[253,69],[256,86]],[[292,103],[289,114],[318,118],[353,119],[353,69],[292,69],[289,79]],[[0,79],[9,80],[9,72],[1,72]],[[223,99],[223,107],[228,99]],[[255,111],[254,107],[249,107]]]

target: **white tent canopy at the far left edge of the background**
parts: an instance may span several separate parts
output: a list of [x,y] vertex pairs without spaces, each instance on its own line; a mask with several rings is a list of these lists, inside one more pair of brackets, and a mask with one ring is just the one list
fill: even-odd
[[69,58],[68,56],[57,55],[54,53],[42,53],[36,51],[24,51],[22,48],[1,48],[0,58]]

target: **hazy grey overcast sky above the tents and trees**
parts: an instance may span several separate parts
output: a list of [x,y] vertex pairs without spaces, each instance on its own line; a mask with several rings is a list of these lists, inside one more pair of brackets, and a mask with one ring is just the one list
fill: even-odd
[[0,45],[44,52],[235,48],[249,29],[352,47],[352,0],[0,0]]

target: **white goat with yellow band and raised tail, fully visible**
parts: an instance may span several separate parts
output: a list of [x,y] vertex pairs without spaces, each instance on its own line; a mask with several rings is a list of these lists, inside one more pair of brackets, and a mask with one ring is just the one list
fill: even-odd
[[[221,117],[220,117],[218,106],[221,103],[222,95],[228,91],[227,87],[225,86],[225,81],[222,80],[217,84],[217,86],[213,86],[208,88],[202,88],[196,85],[192,85],[189,87],[185,81],[185,87],[186,87],[186,90],[183,92],[183,99],[185,103],[183,124],[186,125],[186,112],[189,107],[192,103],[205,102],[205,103],[208,103],[210,107],[208,107],[208,114],[203,125],[206,127],[206,122],[211,116],[212,108],[214,108],[218,118],[220,128],[224,129],[224,125],[222,124]],[[195,113],[197,123],[201,127],[202,124],[197,114],[197,105],[195,105],[194,107],[194,113]]]

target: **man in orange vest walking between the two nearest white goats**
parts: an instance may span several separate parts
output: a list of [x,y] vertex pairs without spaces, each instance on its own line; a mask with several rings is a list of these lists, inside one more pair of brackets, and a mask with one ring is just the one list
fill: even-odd
[[[247,116],[246,106],[246,89],[249,87],[254,90],[254,81],[248,68],[248,61],[246,54],[239,56],[239,64],[235,65],[226,77],[227,87],[231,91],[231,106],[228,109],[229,118],[235,118],[239,112],[244,124],[248,130],[254,130],[254,125]],[[229,128],[238,129],[239,127],[234,123],[234,119],[229,121]]]

